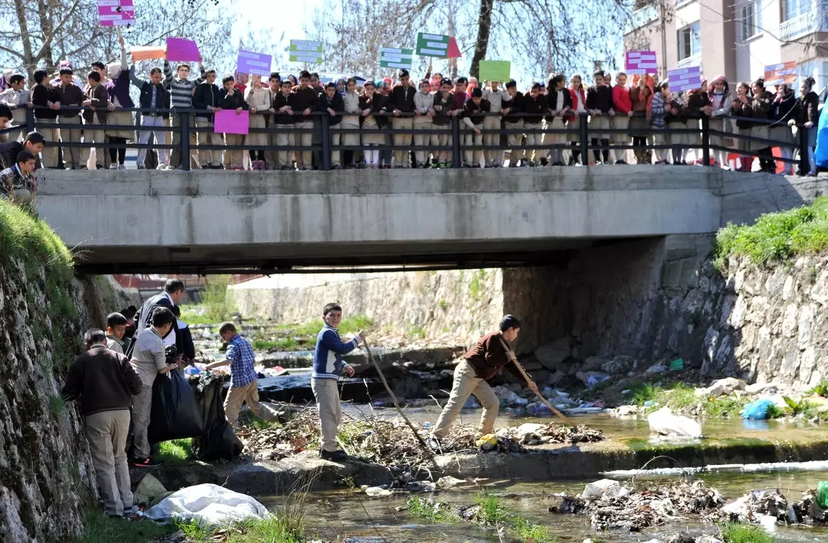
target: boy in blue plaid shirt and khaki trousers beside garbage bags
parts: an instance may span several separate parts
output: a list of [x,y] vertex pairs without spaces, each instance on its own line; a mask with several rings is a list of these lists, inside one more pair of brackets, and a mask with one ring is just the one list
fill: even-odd
[[253,345],[242,336],[238,335],[236,326],[232,322],[223,322],[219,326],[219,336],[227,342],[227,353],[225,360],[218,360],[207,364],[206,369],[230,366],[230,389],[227,391],[227,398],[224,398],[224,415],[227,422],[233,426],[233,430],[239,435],[244,435],[238,429],[238,412],[242,410],[244,402],[248,403],[250,411],[256,417],[264,420],[272,420],[273,414],[258,401],[258,379],[253,364],[256,362],[256,355],[253,355]]

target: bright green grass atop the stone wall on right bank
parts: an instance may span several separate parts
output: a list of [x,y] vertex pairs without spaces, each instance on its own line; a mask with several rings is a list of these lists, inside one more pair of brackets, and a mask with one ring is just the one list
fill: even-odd
[[784,262],[828,249],[828,197],[810,206],[766,213],[753,225],[729,223],[716,234],[716,264],[729,256],[748,256],[755,264]]

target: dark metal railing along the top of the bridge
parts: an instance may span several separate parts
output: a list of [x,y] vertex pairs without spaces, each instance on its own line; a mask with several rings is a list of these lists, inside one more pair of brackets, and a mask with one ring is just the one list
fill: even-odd
[[[538,157],[544,158],[544,154],[548,151],[561,150],[574,152],[580,155],[580,160],[584,164],[586,164],[589,160],[590,151],[595,153],[596,151],[604,152],[609,150],[652,151],[688,149],[696,151],[696,160],[698,161],[700,159],[701,164],[711,164],[711,151],[719,150],[724,151],[728,154],[759,157],[760,159],[765,160],[781,161],[785,164],[798,164],[800,171],[804,174],[810,169],[807,154],[808,131],[816,130],[816,126],[812,127],[811,129],[806,129],[803,126],[798,126],[797,137],[793,137],[791,133],[788,132],[786,137],[782,139],[774,139],[770,137],[754,136],[753,131],[749,130],[749,128],[736,129],[736,123],[738,121],[741,121],[743,123],[749,123],[749,126],[763,127],[765,129],[784,128],[785,131],[790,131],[791,127],[787,126],[786,124],[780,124],[780,121],[758,119],[754,117],[713,117],[713,120],[724,121],[726,123],[729,123],[730,126],[732,126],[732,128],[728,130],[722,130],[718,127],[711,127],[710,117],[706,117],[704,115],[679,118],[679,121],[681,121],[683,127],[675,127],[675,124],[669,121],[668,117],[667,124],[662,129],[655,129],[652,127],[614,128],[613,126],[611,126],[612,123],[609,123],[609,127],[602,126],[600,128],[597,128],[594,126],[595,117],[592,117],[590,119],[589,114],[585,112],[581,112],[577,116],[570,114],[569,116],[564,117],[564,119],[567,120],[567,122],[566,126],[562,128],[551,127],[551,119],[553,119],[553,116],[551,115],[542,116],[545,117],[545,120],[549,121],[542,121],[540,123],[541,126],[539,127],[521,126],[517,128],[509,128],[507,123],[517,123],[520,121],[525,121],[527,118],[537,118],[541,116],[529,113],[510,113],[504,117],[500,113],[481,113],[479,115],[474,115],[473,117],[499,117],[500,119],[499,128],[483,128],[482,126],[479,128],[479,136],[481,136],[481,138],[483,136],[497,136],[496,143],[482,145],[475,143],[474,137],[469,138],[469,136],[471,136],[472,134],[472,129],[470,129],[465,124],[463,118],[460,116],[449,117],[448,125],[446,126],[446,128],[443,129],[435,128],[432,124],[431,127],[428,128],[418,127],[416,129],[407,128],[404,130],[400,130],[388,126],[391,124],[392,119],[401,117],[414,118],[416,117],[414,113],[402,113],[400,116],[397,117],[394,116],[392,112],[374,112],[371,113],[370,116],[378,120],[379,124],[385,126],[378,126],[377,128],[365,129],[362,125],[360,125],[359,129],[345,129],[340,124],[331,123],[331,119],[333,117],[330,116],[330,113],[311,112],[310,116],[307,117],[313,119],[313,128],[291,127],[287,130],[289,131],[289,134],[291,136],[294,136],[294,142],[289,143],[288,145],[277,145],[276,138],[273,136],[285,131],[286,129],[282,128],[281,126],[274,126],[274,124],[271,121],[274,115],[273,113],[257,112],[251,113],[251,115],[266,116],[268,126],[264,128],[251,127],[248,129],[248,134],[267,135],[267,145],[252,145],[248,142],[242,143],[240,145],[207,145],[200,141],[199,136],[208,132],[214,132],[214,127],[196,127],[194,122],[195,117],[211,118],[213,112],[207,110],[195,110],[191,108],[149,109],[141,107],[119,107],[115,110],[116,112],[131,112],[136,114],[136,118],[134,119],[135,124],[116,125],[107,123],[103,125],[89,125],[84,123],[84,125],[78,126],[62,125],[58,121],[46,121],[43,118],[36,117],[37,109],[47,108],[36,107],[34,109],[28,109],[26,114],[25,126],[12,126],[11,128],[0,130],[0,135],[6,134],[11,137],[17,137],[22,131],[49,131],[49,133],[54,133],[55,137],[51,139],[47,138],[46,145],[52,147],[58,146],[61,150],[72,147],[99,149],[126,148],[138,150],[179,150],[181,153],[181,169],[190,169],[191,161],[194,164],[197,164],[197,159],[195,158],[195,156],[200,150],[261,150],[276,152],[287,151],[289,153],[300,153],[303,151],[310,151],[310,153],[313,154],[314,169],[330,170],[335,168],[335,164],[333,164],[333,161],[331,160],[333,154],[341,153],[342,151],[378,150],[381,153],[389,153],[394,150],[402,150],[405,153],[408,153],[409,151],[424,151],[426,153],[426,156],[429,156],[432,153],[436,155],[439,152],[447,154],[451,157],[450,160],[445,161],[447,163],[445,164],[446,167],[460,168],[463,165],[465,165],[466,161],[464,160],[464,156],[468,152],[477,154],[485,151],[499,152],[510,150],[512,151],[512,156],[514,156],[515,152],[517,152],[517,156],[526,154],[527,156],[536,155]],[[91,108],[61,107],[61,112],[77,111],[79,114],[81,111],[87,109]],[[165,118],[176,117],[177,122],[175,126],[172,126],[171,122],[166,120],[163,126],[142,126],[140,124],[139,116],[148,114],[152,114],[153,116],[161,116]],[[297,117],[298,120],[302,116],[297,114],[294,117]],[[346,114],[337,113],[335,117],[346,117]],[[350,117],[364,118],[361,115],[351,115]],[[640,118],[641,116],[636,114],[636,116],[634,117]],[[632,120],[634,117],[630,117],[630,119]],[[574,122],[575,118],[577,118],[578,122]],[[613,117],[608,118],[611,119]],[[717,124],[716,126],[721,125]],[[133,143],[121,143],[113,141],[86,141],[85,138],[84,141],[68,141],[68,138],[60,138],[60,140],[58,140],[58,135],[60,134],[61,129],[71,131],[83,131],[84,128],[87,127],[89,127],[88,130],[94,129],[95,131],[104,131],[104,134],[107,131],[134,131],[136,136],[133,138]],[[167,143],[166,141],[153,142],[152,139],[147,141],[146,145],[137,143],[137,135],[139,135],[142,131],[149,130],[169,134],[170,136],[173,136],[173,139],[178,141],[178,143],[176,145],[172,145],[171,143]],[[446,138],[447,143],[445,145],[439,145],[431,142],[433,136],[445,136],[447,132],[450,137]],[[296,136],[301,135],[310,136],[310,145],[296,145],[296,141],[299,140],[299,138]],[[341,136],[348,135],[359,135],[360,144],[342,144],[341,141],[343,138]],[[414,136],[424,135],[429,136],[429,143],[427,145],[412,144],[412,142],[414,141]],[[616,137],[618,135],[623,135],[623,142],[621,141],[622,138]],[[655,143],[653,141],[654,135],[662,136],[660,140],[663,140],[663,142]],[[339,138],[335,138],[333,136],[339,136]],[[383,143],[376,145],[372,144],[370,147],[368,147],[367,145],[362,143],[362,138],[365,136],[383,136]],[[509,145],[508,136],[521,136],[520,143]],[[525,136],[525,139],[523,139],[523,136]],[[676,136],[685,136],[685,139],[681,142],[676,142]],[[339,142],[336,141],[337,139],[339,139]],[[408,143],[402,143],[403,139],[407,140]],[[470,144],[469,139],[471,141]],[[645,143],[640,143],[641,139],[644,139]],[[602,142],[601,140],[604,141]],[[636,142],[637,140],[638,143]],[[737,142],[737,144],[724,145],[727,142],[727,140],[734,140],[735,142]],[[195,143],[193,143],[193,141],[195,141]],[[536,143],[530,143],[531,141],[535,141]],[[609,141],[609,143],[607,141]],[[739,145],[739,142],[745,143],[743,143],[743,145]],[[774,156],[771,155],[772,148],[788,150],[789,152],[787,153],[787,156]],[[798,151],[797,158],[793,158],[796,155],[794,151]],[[408,157],[408,155],[406,156]],[[191,160],[186,160],[186,157],[190,157]],[[99,158],[99,161],[100,160],[101,159]],[[103,164],[103,161],[99,163]]]

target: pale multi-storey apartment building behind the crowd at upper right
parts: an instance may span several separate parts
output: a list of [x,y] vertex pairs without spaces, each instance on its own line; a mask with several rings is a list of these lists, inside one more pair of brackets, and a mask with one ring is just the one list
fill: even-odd
[[[654,50],[663,69],[699,65],[705,77],[762,77],[797,62],[816,88],[828,84],[828,0],[635,0],[626,50]],[[666,65],[665,65],[666,61]]]

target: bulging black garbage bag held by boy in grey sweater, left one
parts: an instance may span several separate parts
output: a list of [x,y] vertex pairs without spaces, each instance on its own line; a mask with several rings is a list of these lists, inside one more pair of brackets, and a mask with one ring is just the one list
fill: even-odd
[[150,443],[199,437],[204,431],[195,394],[178,369],[158,374],[152,383],[152,412],[147,440]]

